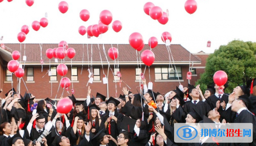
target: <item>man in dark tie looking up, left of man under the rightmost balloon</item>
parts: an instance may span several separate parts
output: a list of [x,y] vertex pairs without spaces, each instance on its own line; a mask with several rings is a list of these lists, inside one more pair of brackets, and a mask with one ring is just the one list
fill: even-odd
[[188,98],[191,101],[187,101],[184,104],[183,110],[185,115],[191,111],[194,111],[194,109],[200,112],[199,115],[206,115],[211,110],[207,102],[199,101],[199,91],[195,86],[191,85],[191,87],[188,88],[188,93]]

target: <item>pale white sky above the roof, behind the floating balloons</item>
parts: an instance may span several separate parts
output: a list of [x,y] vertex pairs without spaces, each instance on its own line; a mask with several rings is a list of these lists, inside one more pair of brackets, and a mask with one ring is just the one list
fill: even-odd
[[[61,0],[35,0],[29,7],[25,0],[13,0],[0,3],[0,43],[19,43],[17,34],[23,25],[30,26],[23,43],[55,43],[65,40],[70,44],[129,44],[133,32],[142,34],[145,44],[150,37],[156,37],[158,44],[163,44],[161,34],[168,31],[172,34],[171,44],[180,44],[188,51],[212,53],[220,45],[239,39],[256,42],[256,1],[255,0],[196,0],[197,10],[188,14],[184,8],[186,0],[66,0],[68,11],[62,14],[58,9]],[[143,6],[152,2],[163,11],[169,10],[169,21],[160,24],[145,14]],[[79,17],[81,10],[90,12],[86,22]],[[86,28],[98,24],[102,10],[112,12],[113,21],[123,24],[120,32],[109,29],[102,38],[87,38],[78,33],[78,27]],[[33,21],[40,21],[48,14],[49,24],[34,31]],[[112,22],[113,22],[112,21]],[[206,47],[211,41],[211,47]]]

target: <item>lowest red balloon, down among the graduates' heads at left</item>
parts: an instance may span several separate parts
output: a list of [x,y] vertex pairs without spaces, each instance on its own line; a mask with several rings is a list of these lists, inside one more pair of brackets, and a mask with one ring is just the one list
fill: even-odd
[[73,107],[73,102],[69,98],[62,98],[57,104],[57,112],[68,114]]

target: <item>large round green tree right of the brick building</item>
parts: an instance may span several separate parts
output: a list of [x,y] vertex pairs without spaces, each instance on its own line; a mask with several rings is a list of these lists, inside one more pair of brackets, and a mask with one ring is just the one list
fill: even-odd
[[196,84],[206,89],[206,85],[213,84],[213,75],[218,70],[228,74],[229,87],[226,93],[231,93],[238,85],[246,84],[246,81],[256,77],[256,43],[233,40],[228,45],[221,45],[218,50],[210,54],[206,60],[205,72]]

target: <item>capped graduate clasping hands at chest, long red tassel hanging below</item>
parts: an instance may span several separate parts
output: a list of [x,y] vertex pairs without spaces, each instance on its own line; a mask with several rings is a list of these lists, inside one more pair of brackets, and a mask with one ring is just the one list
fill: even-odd
[[106,104],[108,104],[107,112],[102,115],[102,122],[105,124],[106,134],[111,135],[116,138],[120,131],[121,122],[123,120],[122,114],[119,114],[116,109],[116,105],[118,105],[120,101],[116,100],[113,97],[110,97]]

